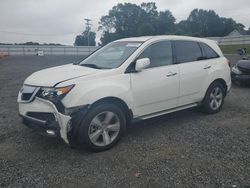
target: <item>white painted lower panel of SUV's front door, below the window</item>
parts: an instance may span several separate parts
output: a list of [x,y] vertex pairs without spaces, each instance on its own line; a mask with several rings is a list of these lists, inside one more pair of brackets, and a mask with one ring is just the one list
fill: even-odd
[[[178,65],[170,65],[131,74],[135,116],[144,116],[177,107],[179,92],[177,73]],[[176,76],[167,77],[167,74],[176,74]]]

